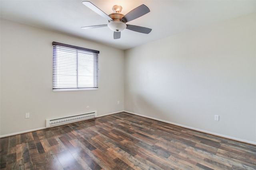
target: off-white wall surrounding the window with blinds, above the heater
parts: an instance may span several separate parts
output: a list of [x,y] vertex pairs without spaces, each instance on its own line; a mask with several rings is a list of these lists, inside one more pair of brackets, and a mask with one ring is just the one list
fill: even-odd
[[[52,41],[100,51],[98,90],[52,92]],[[1,136],[45,127],[50,118],[124,110],[123,50],[1,20],[0,54]]]

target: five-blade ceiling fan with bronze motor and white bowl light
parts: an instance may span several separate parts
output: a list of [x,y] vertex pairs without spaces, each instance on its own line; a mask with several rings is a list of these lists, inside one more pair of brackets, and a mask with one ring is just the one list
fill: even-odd
[[105,14],[102,10],[100,10],[98,7],[96,7],[94,4],[92,4],[89,1],[84,1],[82,2],[85,6],[99,14],[100,16],[106,18],[108,20],[108,24],[104,25],[93,25],[93,26],[87,26],[87,27],[82,27],[83,29],[90,29],[90,28],[98,28],[98,27],[109,27],[112,31],[114,31],[114,39],[119,39],[121,37],[121,31],[124,29],[130,29],[132,31],[136,31],[139,33],[145,33],[148,34],[152,31],[150,28],[146,27],[140,27],[137,25],[128,25],[126,22],[135,20],[136,18],[139,18],[141,16],[144,16],[150,10],[146,5],[140,5],[137,8],[134,8],[130,12],[128,12],[126,15],[120,14],[122,11],[122,6],[120,5],[115,5],[113,6],[112,14]]

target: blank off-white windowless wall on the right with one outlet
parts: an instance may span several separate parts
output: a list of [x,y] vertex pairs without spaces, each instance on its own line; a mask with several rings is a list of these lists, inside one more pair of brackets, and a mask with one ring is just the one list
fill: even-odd
[[126,50],[124,60],[126,111],[256,144],[256,14]]

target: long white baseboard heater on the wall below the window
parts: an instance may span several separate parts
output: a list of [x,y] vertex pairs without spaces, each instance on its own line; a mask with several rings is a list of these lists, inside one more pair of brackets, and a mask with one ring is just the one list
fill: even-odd
[[68,124],[71,122],[81,121],[85,119],[92,119],[94,117],[97,117],[97,111],[94,111],[92,113],[84,113],[80,115],[62,117],[57,119],[46,119],[46,127]]

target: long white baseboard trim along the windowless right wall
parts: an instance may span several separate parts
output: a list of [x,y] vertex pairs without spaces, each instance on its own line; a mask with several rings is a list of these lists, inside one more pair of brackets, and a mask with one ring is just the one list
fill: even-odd
[[231,136],[222,135],[222,134],[219,134],[219,133],[214,133],[214,132],[210,132],[210,131],[205,131],[205,130],[203,130],[203,129],[197,129],[197,128],[194,128],[194,127],[190,127],[190,126],[186,126],[186,125],[181,125],[181,124],[174,123],[174,122],[170,122],[170,121],[165,121],[165,120],[158,119],[158,118],[155,118],[155,117],[150,117],[150,116],[146,116],[146,115],[141,115],[141,114],[134,113],[134,112],[131,112],[131,111],[124,111],[124,112],[126,112],[126,113],[131,113],[131,114],[133,114],[133,115],[138,115],[138,116],[141,116],[141,117],[146,117],[146,118],[150,118],[150,119],[162,121],[162,122],[165,122],[165,123],[170,123],[170,124],[172,124],[172,125],[177,125],[177,126],[180,126],[180,127],[185,127],[185,128],[187,128],[187,129],[192,129],[192,130],[199,131],[199,132],[202,132],[202,133],[208,133],[208,134],[211,134],[211,135],[216,135],[216,136],[224,137],[224,138],[227,138],[227,139],[232,139],[232,140],[235,140],[235,141],[240,141],[240,142],[244,142],[244,143],[249,143],[249,144],[252,144],[252,145],[256,145],[256,142],[253,142],[253,141],[247,141],[247,140],[239,139],[239,138],[236,138],[236,137],[231,137]]

